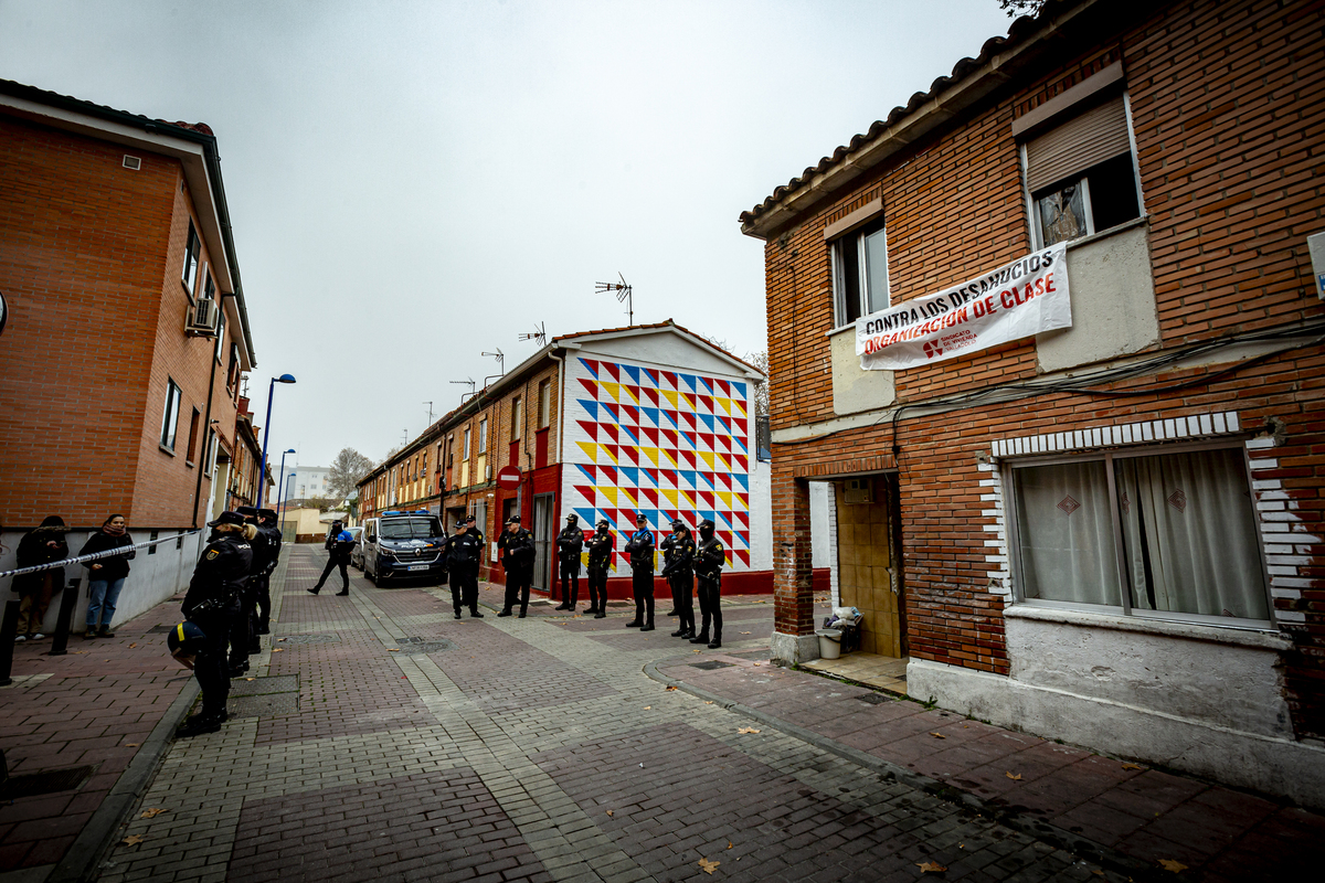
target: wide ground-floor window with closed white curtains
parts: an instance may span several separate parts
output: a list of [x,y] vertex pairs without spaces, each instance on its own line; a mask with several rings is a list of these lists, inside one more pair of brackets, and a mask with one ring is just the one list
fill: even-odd
[[1269,620],[1240,446],[1012,465],[1008,478],[1019,600]]

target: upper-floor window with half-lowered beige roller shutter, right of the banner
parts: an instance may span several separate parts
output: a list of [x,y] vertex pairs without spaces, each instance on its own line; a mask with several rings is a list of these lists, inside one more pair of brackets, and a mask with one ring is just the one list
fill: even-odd
[[1023,143],[1031,228],[1039,248],[1141,217],[1126,97],[1113,94],[1068,113]]

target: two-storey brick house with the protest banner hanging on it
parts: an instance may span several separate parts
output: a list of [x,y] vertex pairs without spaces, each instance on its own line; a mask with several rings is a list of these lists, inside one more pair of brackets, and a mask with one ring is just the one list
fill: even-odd
[[[882,526],[837,600],[913,696],[1321,805],[1322,26],[1298,1],[1048,3],[741,214],[778,657],[816,655],[827,482],[839,523]],[[1057,244],[1069,326],[979,343]]]

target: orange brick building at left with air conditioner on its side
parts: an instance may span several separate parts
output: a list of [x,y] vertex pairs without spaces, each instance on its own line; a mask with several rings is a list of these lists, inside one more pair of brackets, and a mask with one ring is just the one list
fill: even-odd
[[[0,81],[0,290],[7,547],[46,515],[147,539],[225,504],[254,356],[205,124]],[[196,540],[139,556],[125,613],[187,579]]]

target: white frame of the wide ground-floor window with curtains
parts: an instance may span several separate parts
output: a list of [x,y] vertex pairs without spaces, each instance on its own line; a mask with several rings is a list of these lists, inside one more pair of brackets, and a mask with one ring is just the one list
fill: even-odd
[[[1260,556],[1260,575],[1261,575],[1261,588],[1265,593],[1265,609],[1269,614],[1268,620],[1243,620],[1235,617],[1222,617],[1222,616],[1208,616],[1203,613],[1182,613],[1171,610],[1137,610],[1132,608],[1132,585],[1130,585],[1130,571],[1124,560],[1124,541],[1122,541],[1122,519],[1118,515],[1118,499],[1117,499],[1117,483],[1113,473],[1113,463],[1116,459],[1129,459],[1137,457],[1155,457],[1161,454],[1179,454],[1187,451],[1200,451],[1200,450],[1231,450],[1238,449],[1243,455],[1243,475],[1247,481],[1247,492],[1249,495],[1252,507],[1252,523],[1256,530],[1256,551]],[[1114,553],[1118,556],[1118,585],[1117,592],[1120,593],[1117,605],[1102,605],[1102,604],[1081,604],[1077,601],[1055,601],[1047,598],[1028,598],[1026,597],[1026,584],[1022,576],[1022,526],[1016,519],[1016,482],[1012,475],[1018,469],[1034,467],[1034,466],[1052,466],[1057,463],[1071,463],[1071,462],[1086,462],[1086,461],[1104,461],[1105,466],[1105,481],[1109,487],[1109,512],[1113,524],[1113,548]],[[1243,440],[1238,438],[1223,438],[1207,442],[1190,442],[1190,443],[1177,443],[1177,445],[1136,445],[1130,447],[1114,447],[1105,450],[1090,450],[1083,451],[1080,454],[1071,455],[1053,455],[1053,457],[1027,457],[1018,459],[1006,459],[1000,465],[1000,482],[1003,486],[1003,523],[1007,528],[1007,559],[1008,569],[1012,577],[1012,604],[1034,606],[1034,608],[1047,608],[1059,610],[1076,610],[1079,613],[1094,613],[1106,616],[1125,616],[1136,620],[1157,620],[1166,622],[1186,622],[1208,625],[1224,629],[1244,629],[1255,631],[1273,630],[1276,626],[1275,620],[1275,598],[1271,593],[1269,582],[1269,568],[1265,560],[1265,540],[1259,530],[1260,514],[1256,510],[1256,491],[1252,485],[1251,478],[1251,463],[1247,455],[1247,445]]]

